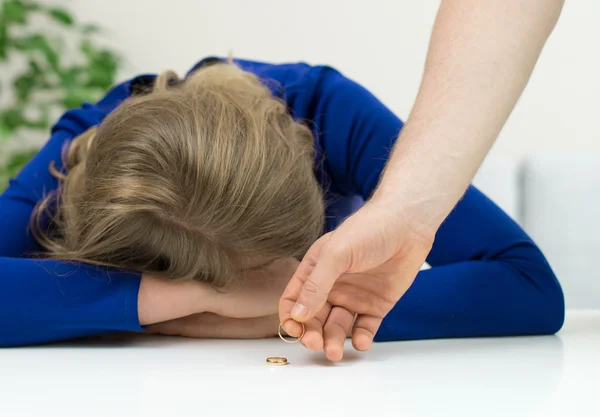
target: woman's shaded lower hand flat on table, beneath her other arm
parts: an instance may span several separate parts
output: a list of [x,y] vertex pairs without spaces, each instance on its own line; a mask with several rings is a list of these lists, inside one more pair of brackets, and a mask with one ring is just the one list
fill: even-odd
[[148,326],[146,333],[194,338],[262,339],[277,336],[278,325],[277,314],[235,319],[202,313],[153,324]]

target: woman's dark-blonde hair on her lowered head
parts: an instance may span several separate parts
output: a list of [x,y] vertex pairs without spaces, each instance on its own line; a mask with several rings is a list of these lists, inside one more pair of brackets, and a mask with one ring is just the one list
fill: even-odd
[[322,233],[313,149],[256,76],[167,72],[73,140],[32,230],[51,258],[223,287],[244,260],[302,257]]

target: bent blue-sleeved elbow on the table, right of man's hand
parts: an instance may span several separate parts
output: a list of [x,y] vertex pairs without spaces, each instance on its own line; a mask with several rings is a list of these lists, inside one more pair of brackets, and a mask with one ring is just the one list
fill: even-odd
[[534,242],[474,187],[450,213],[432,268],[384,319],[375,340],[553,334],[563,293]]

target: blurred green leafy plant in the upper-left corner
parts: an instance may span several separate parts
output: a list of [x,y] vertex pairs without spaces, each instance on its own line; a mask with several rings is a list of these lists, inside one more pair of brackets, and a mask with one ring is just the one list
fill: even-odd
[[[0,105],[0,139],[17,140],[15,133],[23,128],[47,129],[55,110],[95,101],[115,82],[120,56],[94,43],[101,28],[80,25],[68,9],[48,3],[0,0],[0,62],[15,58],[28,63],[13,73],[6,84],[9,91],[2,91],[13,99]],[[28,24],[33,13],[43,13],[63,27],[56,35],[51,27],[17,28]],[[78,51],[63,42],[67,37],[79,42]],[[62,62],[63,56],[74,63]]]

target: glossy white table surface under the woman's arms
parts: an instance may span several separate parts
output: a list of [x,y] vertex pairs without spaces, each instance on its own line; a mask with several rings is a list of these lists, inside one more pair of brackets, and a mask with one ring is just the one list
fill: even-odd
[[347,346],[346,357],[150,336],[0,349],[0,416],[600,416],[600,311],[568,313],[557,336]]

